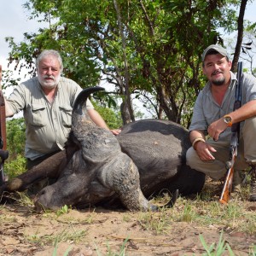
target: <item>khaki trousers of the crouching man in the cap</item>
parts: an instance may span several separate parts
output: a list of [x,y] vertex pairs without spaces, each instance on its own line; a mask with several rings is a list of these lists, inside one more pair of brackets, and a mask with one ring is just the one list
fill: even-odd
[[[225,166],[229,160],[230,142],[214,142],[209,139],[207,143],[217,150],[217,152],[212,153],[215,160],[202,161],[195,149],[191,147],[186,154],[187,165],[218,180],[224,177],[227,172]],[[241,123],[238,153],[234,167],[236,171],[241,171],[247,169],[250,164],[256,165],[256,117]]]

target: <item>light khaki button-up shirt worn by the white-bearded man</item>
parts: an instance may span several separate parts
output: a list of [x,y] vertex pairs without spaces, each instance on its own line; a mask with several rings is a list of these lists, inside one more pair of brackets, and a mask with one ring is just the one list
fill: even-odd
[[[7,103],[13,113],[23,110],[26,158],[35,160],[63,149],[71,130],[73,103],[81,90],[73,80],[61,78],[55,100],[50,104],[38,78],[29,79],[15,87]],[[89,100],[86,108],[93,108]]]

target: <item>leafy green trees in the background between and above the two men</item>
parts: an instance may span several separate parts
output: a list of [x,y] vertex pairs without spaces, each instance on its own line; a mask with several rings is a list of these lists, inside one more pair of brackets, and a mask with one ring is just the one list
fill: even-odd
[[100,80],[114,84],[122,101],[123,123],[134,120],[131,95],[138,94],[138,98],[152,96],[157,118],[189,124],[203,85],[201,52],[208,44],[223,44],[217,28],[228,32],[236,28],[238,4],[235,0],[30,0],[25,5],[30,18],[49,22],[49,27],[26,33],[20,44],[7,38],[12,49],[9,61],[17,66],[26,61],[25,67],[34,74],[40,51],[57,49],[64,75],[82,87]]

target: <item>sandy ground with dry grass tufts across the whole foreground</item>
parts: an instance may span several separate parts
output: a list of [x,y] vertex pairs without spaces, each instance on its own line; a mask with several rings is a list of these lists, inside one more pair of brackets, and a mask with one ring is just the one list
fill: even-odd
[[207,180],[201,195],[159,212],[64,206],[38,214],[21,193],[0,206],[0,255],[255,255],[256,204],[247,201],[247,186],[228,206],[219,204],[221,186]]

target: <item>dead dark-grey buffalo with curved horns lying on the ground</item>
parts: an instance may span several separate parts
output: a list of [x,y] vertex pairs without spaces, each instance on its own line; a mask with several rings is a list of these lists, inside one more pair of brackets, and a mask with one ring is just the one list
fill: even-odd
[[118,202],[130,210],[155,210],[147,199],[163,189],[182,195],[200,192],[205,175],[186,166],[189,133],[167,120],[146,119],[125,125],[119,136],[96,126],[84,111],[90,93],[83,90],[73,107],[71,145],[7,184],[6,190],[26,189],[44,177],[55,183],[38,192],[38,208],[64,205],[111,207]]

